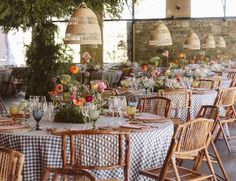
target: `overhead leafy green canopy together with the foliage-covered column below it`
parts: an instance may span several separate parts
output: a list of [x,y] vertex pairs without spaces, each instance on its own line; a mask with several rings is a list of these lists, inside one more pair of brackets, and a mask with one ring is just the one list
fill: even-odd
[[[55,44],[57,26],[52,17],[69,17],[83,0],[1,0],[0,26],[7,32],[12,29],[32,28],[32,42],[27,47],[28,80],[26,97],[48,95],[52,89],[52,78],[65,72],[63,63],[72,57],[66,54],[62,44]],[[96,12],[107,12],[117,16],[126,0],[85,0]],[[49,97],[48,97],[49,98]]]

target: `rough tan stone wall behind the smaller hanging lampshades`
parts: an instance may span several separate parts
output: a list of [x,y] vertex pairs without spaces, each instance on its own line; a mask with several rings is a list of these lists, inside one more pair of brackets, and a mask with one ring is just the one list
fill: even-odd
[[[173,41],[173,46],[169,47],[153,47],[149,46],[149,34],[157,21],[136,21],[134,42],[135,42],[135,58],[134,61],[146,62],[154,56],[160,56],[164,50],[169,50],[170,59],[174,59],[178,53],[186,53],[187,56],[197,56],[204,52],[211,59],[236,60],[236,18],[227,19],[179,19],[164,20],[168,27]],[[227,48],[201,49],[200,51],[192,51],[183,49],[184,40],[187,34],[194,30],[201,42],[207,34],[213,36],[223,36],[226,41]]]

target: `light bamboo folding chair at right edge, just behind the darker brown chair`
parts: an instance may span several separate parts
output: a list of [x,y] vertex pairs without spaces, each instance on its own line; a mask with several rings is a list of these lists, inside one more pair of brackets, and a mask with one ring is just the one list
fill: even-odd
[[218,107],[223,107],[225,110],[225,116],[219,116],[219,121],[217,121],[219,125],[219,131],[215,137],[214,142],[217,142],[218,137],[222,133],[223,139],[229,152],[231,152],[231,146],[233,146],[233,145],[230,146],[230,141],[232,141],[236,137],[226,135],[223,127],[224,125],[231,125],[236,119],[236,111],[234,108],[235,97],[236,97],[236,87],[229,87],[226,89],[219,90],[217,98],[214,103],[214,105]]

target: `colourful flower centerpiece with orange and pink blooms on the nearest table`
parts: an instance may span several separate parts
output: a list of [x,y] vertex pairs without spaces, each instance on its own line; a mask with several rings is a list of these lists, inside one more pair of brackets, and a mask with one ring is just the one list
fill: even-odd
[[82,109],[85,103],[91,103],[99,110],[103,105],[103,99],[99,94],[104,87],[100,84],[90,89],[87,85],[81,84],[76,74],[79,68],[73,65],[69,68],[70,74],[62,74],[53,78],[54,90],[49,92],[54,103],[56,122],[83,123]]

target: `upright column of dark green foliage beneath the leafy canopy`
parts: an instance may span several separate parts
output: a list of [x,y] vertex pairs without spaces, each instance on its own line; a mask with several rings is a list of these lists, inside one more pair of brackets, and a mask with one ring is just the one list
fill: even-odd
[[[27,49],[28,95],[48,95],[52,89],[52,78],[63,72],[61,63],[70,63],[66,49],[54,43],[56,26],[52,23],[38,25],[33,29],[33,37]],[[66,67],[66,66],[65,66]]]

